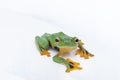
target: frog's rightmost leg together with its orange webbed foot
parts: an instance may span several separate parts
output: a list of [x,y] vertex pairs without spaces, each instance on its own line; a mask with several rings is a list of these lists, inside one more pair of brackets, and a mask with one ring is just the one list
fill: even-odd
[[80,57],[83,57],[85,59],[89,59],[89,57],[93,57],[94,55],[89,53],[84,47],[83,47],[83,42],[80,40],[78,47],[80,48],[76,54],[79,54]]

